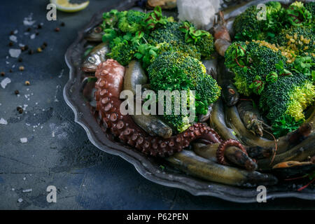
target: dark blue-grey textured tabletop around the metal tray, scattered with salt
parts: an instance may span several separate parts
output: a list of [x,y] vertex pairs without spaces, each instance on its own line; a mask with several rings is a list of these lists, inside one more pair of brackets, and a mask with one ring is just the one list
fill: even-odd
[[[91,1],[78,13],[58,11],[55,22],[45,18],[47,3],[1,1],[0,71],[12,82],[5,89],[0,87],[0,118],[8,121],[8,125],[0,125],[0,209],[315,209],[314,202],[296,199],[236,204],[194,197],[151,183],[125,160],[99,151],[73,122],[73,112],[62,97],[69,73],[64,53],[92,14],[113,1]],[[36,25],[44,24],[34,39],[24,34],[23,19],[30,13]],[[60,27],[60,22],[66,26]],[[60,31],[55,32],[55,27]],[[22,52],[22,62],[6,59],[9,33],[15,29],[18,43],[36,50],[45,41],[48,47],[34,55]],[[32,29],[31,34],[34,32]],[[17,43],[11,48],[18,48]],[[25,71],[18,71],[20,65]],[[31,85],[24,85],[25,80]],[[14,90],[20,91],[20,97]],[[27,113],[19,114],[16,107],[24,104],[28,105]],[[27,137],[28,142],[21,144],[21,137]],[[57,203],[46,201],[45,190],[50,185],[58,189]],[[22,192],[30,188],[30,193]],[[19,198],[23,202],[19,203]]]

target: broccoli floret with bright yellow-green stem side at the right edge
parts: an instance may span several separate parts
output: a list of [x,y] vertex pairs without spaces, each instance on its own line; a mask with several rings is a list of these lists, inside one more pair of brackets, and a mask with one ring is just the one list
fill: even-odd
[[303,111],[314,99],[314,85],[307,76],[293,71],[293,76],[279,76],[276,82],[265,87],[259,106],[272,123],[283,116],[290,116],[298,122],[304,120]]

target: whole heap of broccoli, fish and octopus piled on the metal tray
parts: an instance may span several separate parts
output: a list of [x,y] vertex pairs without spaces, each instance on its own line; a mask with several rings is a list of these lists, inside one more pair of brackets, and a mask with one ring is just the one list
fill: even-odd
[[[104,13],[85,36],[83,94],[113,141],[207,181],[314,180],[315,55],[307,33],[314,32],[314,3],[267,3],[262,23],[251,8],[228,21],[221,11],[211,31],[166,17],[158,6],[135,9]],[[283,22],[285,15],[293,19]],[[242,23],[253,27],[241,30]],[[134,104],[148,111],[159,104],[152,93],[160,90],[188,93],[195,119],[174,113],[176,106],[137,113]]]

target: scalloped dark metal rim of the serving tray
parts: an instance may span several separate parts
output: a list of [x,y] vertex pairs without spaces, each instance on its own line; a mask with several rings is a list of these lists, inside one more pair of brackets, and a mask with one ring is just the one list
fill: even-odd
[[[125,1],[120,5],[111,6],[118,10],[127,10],[134,6],[135,1]],[[146,179],[163,186],[181,188],[187,190],[193,195],[209,195],[219,197],[231,202],[256,202],[258,192],[256,188],[237,188],[235,186],[226,186],[220,183],[213,183],[196,179],[188,174],[176,172],[172,169],[161,170],[160,162],[155,158],[148,158],[136,151],[134,148],[124,146],[123,144],[113,141],[109,134],[104,133],[102,127],[97,123],[90,111],[89,103],[84,99],[82,93],[82,83],[85,73],[80,70],[84,45],[83,38],[87,31],[102,22],[102,13],[109,11],[111,8],[102,8],[95,13],[86,27],[78,32],[76,41],[72,43],[66,51],[66,64],[69,66],[69,80],[64,86],[64,100],[71,107],[75,115],[76,123],[80,124],[87,132],[87,137],[94,146],[97,146],[106,153],[119,155],[124,160],[130,162],[137,169],[139,174]],[[297,197],[304,200],[315,200],[315,190],[305,189],[297,192],[296,188],[286,183],[279,183],[276,186],[267,188],[267,199],[277,197]]]

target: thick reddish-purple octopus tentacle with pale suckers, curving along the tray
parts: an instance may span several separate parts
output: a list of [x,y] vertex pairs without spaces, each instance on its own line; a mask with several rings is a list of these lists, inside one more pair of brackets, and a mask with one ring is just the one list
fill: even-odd
[[220,143],[221,137],[209,126],[195,123],[185,132],[169,139],[151,137],[141,129],[130,115],[120,113],[119,94],[123,90],[125,68],[113,59],[107,59],[97,67],[94,93],[97,101],[96,111],[100,120],[106,123],[111,133],[125,144],[134,146],[142,153],[164,157],[173,155],[189,146],[195,139],[207,139]]

